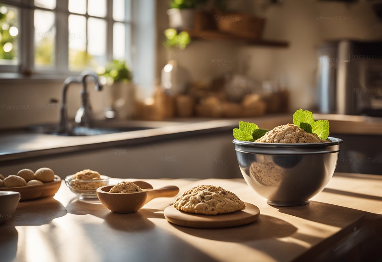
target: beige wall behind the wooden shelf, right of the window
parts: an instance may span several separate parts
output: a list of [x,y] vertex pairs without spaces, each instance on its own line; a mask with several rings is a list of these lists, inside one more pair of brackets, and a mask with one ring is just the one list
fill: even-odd
[[[248,75],[257,82],[282,80],[291,91],[290,110],[308,108],[316,103],[316,47],[325,40],[353,38],[381,39],[382,23],[371,9],[371,1],[354,4],[341,1],[288,0],[277,5],[268,1],[230,1],[230,11],[250,11],[266,20],[264,39],[286,40],[288,48],[244,46],[224,41],[193,41],[184,51],[167,51],[158,44],[157,74],[176,52],[181,52],[180,65],[194,80],[209,80],[225,69],[211,58],[235,58],[230,69],[240,72],[242,61],[249,59]],[[158,0],[158,34],[167,28],[167,2]],[[340,20],[346,16],[348,20]]]

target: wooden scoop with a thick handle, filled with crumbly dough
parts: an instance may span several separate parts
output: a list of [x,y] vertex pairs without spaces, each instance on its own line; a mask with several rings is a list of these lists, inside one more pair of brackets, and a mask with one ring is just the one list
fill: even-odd
[[[138,183],[136,185],[139,186]],[[141,209],[142,206],[146,205],[147,203],[149,203],[149,201],[153,200],[154,198],[172,197],[176,196],[179,193],[179,188],[172,185],[158,189],[144,189],[144,191],[142,192],[109,193],[110,189],[113,186],[114,185],[107,185],[104,187],[97,188],[97,196],[101,201],[102,205],[116,213],[136,212],[139,209]],[[146,188],[149,187],[147,186]]]

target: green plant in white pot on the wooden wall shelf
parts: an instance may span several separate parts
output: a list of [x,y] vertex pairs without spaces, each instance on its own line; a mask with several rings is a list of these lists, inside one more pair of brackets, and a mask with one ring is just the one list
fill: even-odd
[[195,9],[206,0],[170,0],[167,10],[169,25],[177,29],[193,29]]

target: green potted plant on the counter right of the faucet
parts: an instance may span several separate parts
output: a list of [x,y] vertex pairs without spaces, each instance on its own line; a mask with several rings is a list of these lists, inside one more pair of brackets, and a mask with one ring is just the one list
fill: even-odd
[[107,118],[130,119],[134,115],[135,87],[131,82],[131,72],[125,61],[112,60],[97,70],[100,82],[110,88],[110,106]]

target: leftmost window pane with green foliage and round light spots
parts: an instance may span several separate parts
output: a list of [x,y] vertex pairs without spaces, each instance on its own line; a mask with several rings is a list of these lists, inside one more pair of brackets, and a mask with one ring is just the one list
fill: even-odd
[[18,63],[18,10],[0,3],[0,64]]

